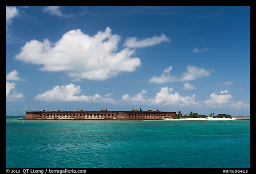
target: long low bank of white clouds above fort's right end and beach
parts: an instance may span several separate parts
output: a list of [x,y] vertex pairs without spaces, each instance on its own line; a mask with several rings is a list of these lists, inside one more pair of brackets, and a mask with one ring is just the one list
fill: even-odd
[[230,109],[248,109],[250,104],[238,101],[234,102],[232,95],[228,90],[220,91],[220,94],[212,93],[210,99],[206,101],[196,101],[196,95],[181,96],[178,92],[173,92],[172,88],[162,87],[155,97],[148,98],[147,91],[142,90],[133,97],[124,94],[119,103],[129,104],[148,104],[156,106],[190,106],[190,107],[210,107],[210,108],[230,108]]

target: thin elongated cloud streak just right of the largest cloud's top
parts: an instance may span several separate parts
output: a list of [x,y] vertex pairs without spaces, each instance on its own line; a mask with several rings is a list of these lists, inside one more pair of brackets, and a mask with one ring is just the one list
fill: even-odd
[[130,37],[125,39],[124,46],[128,48],[139,48],[139,47],[147,47],[147,46],[154,46],[162,42],[169,42],[170,39],[161,34],[160,36],[153,36],[152,38],[141,39],[138,40],[137,37]]

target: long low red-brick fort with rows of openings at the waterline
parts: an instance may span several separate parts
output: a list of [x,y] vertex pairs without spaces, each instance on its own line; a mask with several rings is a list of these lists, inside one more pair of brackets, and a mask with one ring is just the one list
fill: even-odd
[[107,109],[100,111],[84,111],[83,109],[75,111],[27,111],[26,120],[31,119],[55,119],[55,120],[163,120],[172,118],[176,112],[171,111],[139,111],[132,109],[131,111],[108,111]]

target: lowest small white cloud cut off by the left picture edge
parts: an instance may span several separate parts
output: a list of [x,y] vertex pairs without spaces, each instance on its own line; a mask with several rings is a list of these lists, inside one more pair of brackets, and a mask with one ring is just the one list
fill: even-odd
[[16,101],[24,98],[23,93],[18,93],[16,91],[11,92],[13,89],[15,89],[15,87],[16,87],[16,83],[8,82],[8,81],[5,83],[6,101]]

